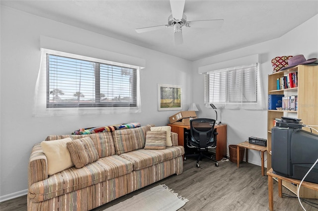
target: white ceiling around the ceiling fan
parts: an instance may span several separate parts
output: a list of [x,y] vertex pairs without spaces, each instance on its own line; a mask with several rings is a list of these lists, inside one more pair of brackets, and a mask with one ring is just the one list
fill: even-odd
[[318,14],[318,0],[186,0],[188,21],[224,19],[221,29],[182,28],[138,34],[167,24],[169,0],[1,0],[1,5],[189,60],[278,38]]

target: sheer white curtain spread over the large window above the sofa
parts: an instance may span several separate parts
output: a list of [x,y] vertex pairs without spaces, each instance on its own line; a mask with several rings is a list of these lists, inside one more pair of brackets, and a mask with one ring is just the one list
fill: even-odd
[[34,116],[141,112],[143,67],[43,48],[41,54]]

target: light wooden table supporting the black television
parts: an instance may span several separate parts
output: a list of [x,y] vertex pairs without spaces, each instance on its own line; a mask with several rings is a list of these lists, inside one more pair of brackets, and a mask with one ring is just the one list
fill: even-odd
[[[283,196],[283,193],[282,193],[282,180],[283,181],[287,181],[287,182],[291,182],[291,183],[294,183],[294,184],[297,184],[297,185],[300,184],[301,180],[292,179],[292,178],[280,176],[278,174],[274,174],[272,168],[269,169],[269,171],[267,171],[267,176],[268,176],[268,208],[269,208],[270,211],[273,211],[274,210],[274,204],[273,204],[273,177],[276,177],[277,180],[278,180],[278,196],[280,198],[282,198],[282,196]],[[317,183],[304,181],[302,183],[302,187],[307,187],[309,189],[318,191],[318,184]]]

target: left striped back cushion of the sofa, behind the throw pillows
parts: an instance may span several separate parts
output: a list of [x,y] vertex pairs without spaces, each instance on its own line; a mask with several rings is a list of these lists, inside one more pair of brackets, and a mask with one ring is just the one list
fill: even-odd
[[98,152],[98,157],[103,158],[115,155],[115,146],[111,132],[93,133],[86,135],[51,135],[46,141],[71,138],[72,140],[89,137],[94,142],[94,146]]

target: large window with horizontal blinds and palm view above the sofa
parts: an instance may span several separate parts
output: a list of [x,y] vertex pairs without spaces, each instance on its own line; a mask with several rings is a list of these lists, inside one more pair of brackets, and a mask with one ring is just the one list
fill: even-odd
[[137,69],[46,54],[46,107],[136,107]]

